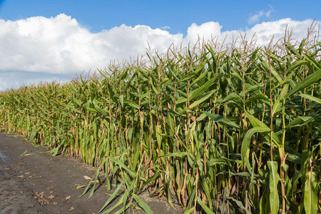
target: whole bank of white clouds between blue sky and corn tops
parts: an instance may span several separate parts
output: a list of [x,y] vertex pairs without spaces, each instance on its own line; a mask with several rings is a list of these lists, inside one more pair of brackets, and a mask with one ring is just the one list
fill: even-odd
[[[145,54],[148,44],[151,50],[165,52],[171,44],[187,45],[198,39],[211,39],[218,36],[226,43],[241,34],[250,38],[255,34],[258,45],[267,44],[274,35],[279,39],[285,27],[293,29],[294,39],[302,39],[312,20],[278,21],[256,24],[246,31],[221,31],[218,22],[191,24],[186,36],[170,34],[165,29],[151,29],[150,26],[121,26],[91,33],[79,25],[76,19],[65,14],[46,18],[42,16],[5,21],[0,19],[0,91],[20,86],[31,80],[39,82],[56,77],[65,80],[75,73],[90,69],[105,68],[110,61],[130,60],[138,54]],[[317,21],[320,24],[320,21]],[[17,71],[18,74],[17,74]],[[25,73],[25,75],[21,75]],[[10,73],[10,75],[9,75]],[[47,73],[46,76],[39,73]]]

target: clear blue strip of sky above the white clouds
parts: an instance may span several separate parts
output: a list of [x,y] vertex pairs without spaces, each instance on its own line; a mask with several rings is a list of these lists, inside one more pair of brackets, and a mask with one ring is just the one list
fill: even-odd
[[250,16],[270,11],[270,17],[260,21],[291,18],[296,21],[319,19],[321,1],[2,1],[0,17],[5,20],[26,19],[31,16],[51,17],[64,13],[77,19],[79,24],[98,32],[114,26],[138,24],[162,28],[170,33],[186,34],[190,24],[218,21],[222,30],[238,30],[253,26]]

